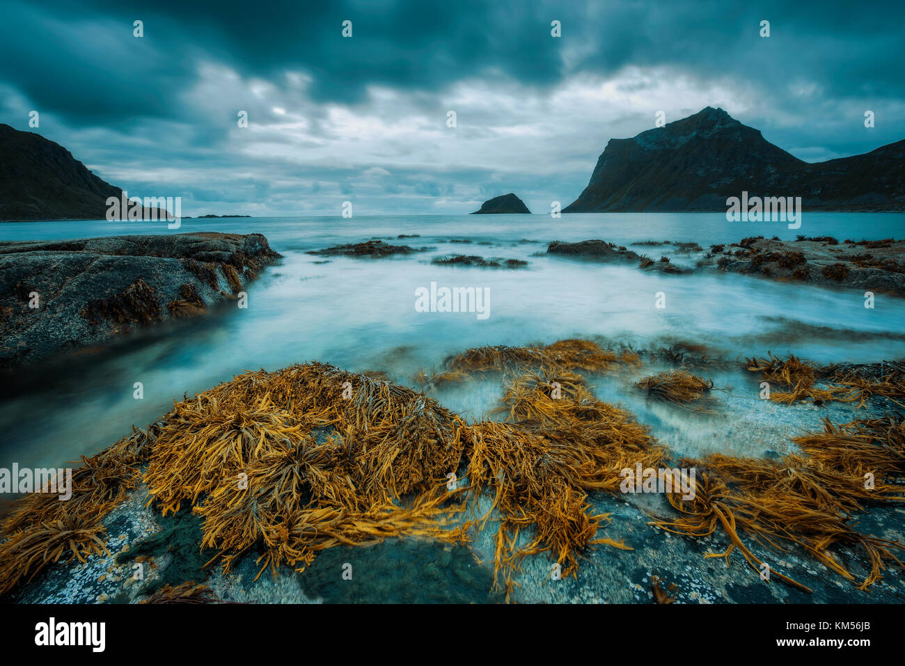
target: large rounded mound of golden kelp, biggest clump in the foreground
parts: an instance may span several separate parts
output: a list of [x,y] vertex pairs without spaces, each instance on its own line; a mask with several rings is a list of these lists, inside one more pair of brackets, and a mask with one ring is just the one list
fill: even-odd
[[337,544],[404,534],[461,541],[461,530],[444,529],[456,510],[445,483],[458,470],[464,429],[405,386],[291,366],[176,404],[145,478],[165,512],[195,506],[203,546],[219,551],[224,571],[261,544],[262,570],[275,572]]

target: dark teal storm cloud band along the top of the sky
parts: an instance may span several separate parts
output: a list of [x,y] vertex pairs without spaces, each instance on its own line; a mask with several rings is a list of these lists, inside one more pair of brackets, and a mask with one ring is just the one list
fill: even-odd
[[[700,76],[777,85],[796,76],[830,96],[901,97],[905,3],[247,2],[95,0],[6,5],[0,75],[71,116],[166,115],[205,55],[243,75],[310,71],[317,100],[356,102],[369,84],[443,90],[468,77],[545,87],[582,71],[667,63]],[[145,38],[132,22],[145,22]],[[340,24],[353,22],[344,39]],[[561,41],[549,37],[562,22]],[[771,37],[760,39],[761,19]],[[580,46],[574,62],[561,47]]]

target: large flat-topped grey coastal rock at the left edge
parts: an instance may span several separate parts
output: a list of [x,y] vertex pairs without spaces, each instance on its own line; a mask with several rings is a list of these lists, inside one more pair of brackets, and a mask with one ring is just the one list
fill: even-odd
[[200,314],[279,256],[260,233],[0,243],[0,366]]

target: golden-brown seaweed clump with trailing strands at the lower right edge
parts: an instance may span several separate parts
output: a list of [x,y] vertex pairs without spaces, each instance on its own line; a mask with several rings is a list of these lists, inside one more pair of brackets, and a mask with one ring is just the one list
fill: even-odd
[[[850,521],[868,503],[905,500],[905,487],[895,482],[905,471],[901,417],[839,427],[827,420],[824,433],[806,433],[793,441],[803,454],[779,461],[721,453],[681,461],[699,470],[694,497],[685,500],[679,493],[668,494],[679,516],[657,517],[652,524],[691,537],[705,537],[721,528],[729,536],[729,547],[705,557],[724,557],[728,565],[730,553],[738,547],[758,572],[765,570],[765,562],[752,553],[751,541],[780,552],[791,545],[802,547],[849,580],[855,578],[834,551],[861,547],[870,566],[859,585],[862,590],[880,580],[889,564],[903,566],[897,553],[905,546],[864,535]],[[866,482],[865,471],[871,472],[871,482]],[[744,535],[751,540],[748,544]],[[780,545],[784,542],[785,547]],[[769,571],[788,585],[811,591],[773,567]]]

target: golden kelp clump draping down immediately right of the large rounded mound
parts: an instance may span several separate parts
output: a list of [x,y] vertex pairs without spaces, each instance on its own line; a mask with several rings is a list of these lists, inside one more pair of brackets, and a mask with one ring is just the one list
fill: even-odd
[[[591,490],[619,492],[620,471],[637,462],[659,465],[664,449],[630,414],[603,403],[570,373],[514,378],[504,395],[510,423],[483,421],[471,429],[467,469],[473,509],[483,492],[491,507],[467,527],[482,528],[499,514],[494,582],[507,598],[521,560],[541,552],[556,557],[563,576],[576,576],[581,551],[595,543],[608,514],[594,514]],[[519,537],[533,530],[520,544]]]

